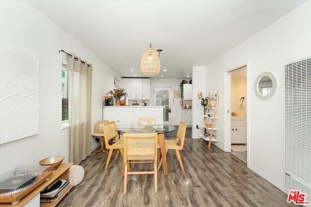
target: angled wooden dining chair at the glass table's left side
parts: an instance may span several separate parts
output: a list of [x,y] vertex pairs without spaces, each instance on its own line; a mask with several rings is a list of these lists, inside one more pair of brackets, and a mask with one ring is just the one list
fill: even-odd
[[[104,123],[103,129],[104,129],[105,145],[106,145],[106,148],[109,149],[108,158],[107,158],[107,162],[106,162],[106,166],[105,166],[105,170],[107,170],[114,149],[117,150],[117,151],[115,151],[117,153],[116,154],[116,160],[118,159],[120,152],[121,152],[121,155],[123,157],[123,140],[119,139],[118,132],[116,131],[116,122],[115,121]],[[113,143],[113,140],[115,143]],[[109,144],[110,141],[112,142],[112,144]],[[124,172],[123,168],[124,168],[124,164],[122,162],[122,176],[123,176],[123,172]]]

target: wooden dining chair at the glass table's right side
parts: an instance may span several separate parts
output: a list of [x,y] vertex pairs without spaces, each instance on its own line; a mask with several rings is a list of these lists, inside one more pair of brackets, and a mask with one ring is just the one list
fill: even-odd
[[[185,171],[185,170],[184,170],[183,162],[182,162],[181,157],[180,157],[179,150],[182,150],[184,148],[186,129],[187,129],[187,125],[183,122],[180,122],[179,127],[178,127],[178,131],[177,131],[177,135],[176,135],[176,139],[164,140],[166,153],[168,152],[169,149],[175,150],[175,155],[176,155],[176,158],[180,164],[182,171]],[[158,148],[160,148],[159,144],[158,144]],[[159,150],[159,154],[158,154],[158,157],[160,157],[160,156],[161,156],[161,150]],[[159,165],[157,167],[157,171],[160,170],[161,166],[162,166],[162,159],[160,159]]]

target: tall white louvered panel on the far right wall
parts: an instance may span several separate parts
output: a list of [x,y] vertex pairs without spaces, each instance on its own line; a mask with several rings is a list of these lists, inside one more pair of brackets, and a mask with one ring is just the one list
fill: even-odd
[[311,59],[285,65],[285,190],[311,201]]

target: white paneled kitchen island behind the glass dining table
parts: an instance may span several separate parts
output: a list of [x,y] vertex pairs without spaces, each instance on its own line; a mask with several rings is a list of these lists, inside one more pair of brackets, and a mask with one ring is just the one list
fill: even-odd
[[103,119],[115,121],[117,125],[136,123],[138,118],[155,118],[163,124],[165,106],[104,106]]

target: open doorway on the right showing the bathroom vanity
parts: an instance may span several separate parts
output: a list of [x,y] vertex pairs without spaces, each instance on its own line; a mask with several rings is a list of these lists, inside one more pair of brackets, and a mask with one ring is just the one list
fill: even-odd
[[228,106],[229,151],[247,163],[247,66],[242,66],[228,72]]

